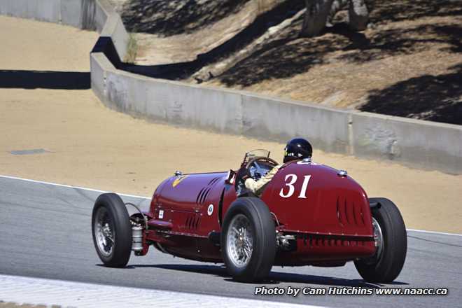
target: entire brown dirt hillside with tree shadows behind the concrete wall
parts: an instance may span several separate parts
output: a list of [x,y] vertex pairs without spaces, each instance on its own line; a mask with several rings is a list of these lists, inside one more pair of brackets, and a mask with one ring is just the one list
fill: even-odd
[[[207,12],[214,15],[216,6],[187,6],[188,18],[181,23],[177,19],[185,14],[184,6],[168,10],[166,3],[170,1],[155,2],[159,11],[153,13],[154,17],[178,15],[176,20],[167,18],[154,22],[148,31],[163,36],[180,31],[183,42],[188,42],[188,37],[197,38],[196,35],[211,31],[219,22],[226,23],[226,16],[239,13],[246,4],[244,0],[235,1],[232,8],[225,6],[224,15],[215,15],[216,19],[212,20]],[[280,1],[278,6],[261,14],[221,45],[199,51],[201,55],[195,60],[190,57],[192,62],[148,65],[144,59],[153,51],[146,47],[139,62],[143,66],[131,69],[148,76],[193,83],[204,81],[205,85],[302,102],[462,124],[462,85],[459,81],[462,78],[462,1],[377,0],[371,13],[372,24],[367,30],[351,31],[346,23],[346,11],[342,11],[337,14],[333,27],[316,38],[300,38],[300,17],[253,47],[246,57],[235,57],[271,32],[271,27],[302,9],[303,2]],[[133,19],[130,22],[136,23]],[[208,34],[208,40],[218,39],[213,31]],[[140,34],[145,43],[153,40],[153,36],[147,35]],[[168,50],[169,57],[174,59],[176,52],[181,53],[178,49],[188,50],[185,45],[183,48],[169,45],[177,37],[155,41],[155,48],[163,52]],[[198,50],[189,50],[190,54],[195,51]],[[236,60],[230,63],[232,57]],[[216,67],[221,67],[218,73]],[[210,73],[207,73],[209,68]],[[201,69],[206,71],[207,78],[192,78]]]

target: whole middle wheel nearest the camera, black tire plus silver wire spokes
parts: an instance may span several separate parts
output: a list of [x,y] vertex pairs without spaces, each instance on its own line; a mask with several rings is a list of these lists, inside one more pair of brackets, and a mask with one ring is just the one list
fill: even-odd
[[261,281],[276,255],[276,229],[265,202],[240,197],[223,221],[221,252],[228,273],[237,281]]

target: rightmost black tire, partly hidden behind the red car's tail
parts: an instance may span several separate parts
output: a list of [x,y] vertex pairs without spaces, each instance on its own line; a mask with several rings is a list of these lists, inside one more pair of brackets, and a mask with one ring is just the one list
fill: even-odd
[[354,265],[365,281],[372,283],[391,283],[398,277],[406,260],[407,232],[398,207],[385,198],[370,198],[377,203],[372,208],[383,235],[381,253],[371,258],[356,260]]

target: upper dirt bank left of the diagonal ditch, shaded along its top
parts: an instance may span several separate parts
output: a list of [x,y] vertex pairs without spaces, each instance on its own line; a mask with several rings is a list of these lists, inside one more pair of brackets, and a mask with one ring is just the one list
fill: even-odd
[[136,32],[137,63],[194,61],[239,34],[284,0],[111,0]]

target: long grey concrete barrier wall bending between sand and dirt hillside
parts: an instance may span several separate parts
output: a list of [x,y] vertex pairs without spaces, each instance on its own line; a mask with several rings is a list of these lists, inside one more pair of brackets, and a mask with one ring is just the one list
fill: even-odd
[[90,55],[92,90],[113,109],[259,139],[302,136],[324,151],[462,174],[461,125],[329,109],[120,71],[129,37],[106,0],[0,0],[0,14],[96,28],[100,38]]

